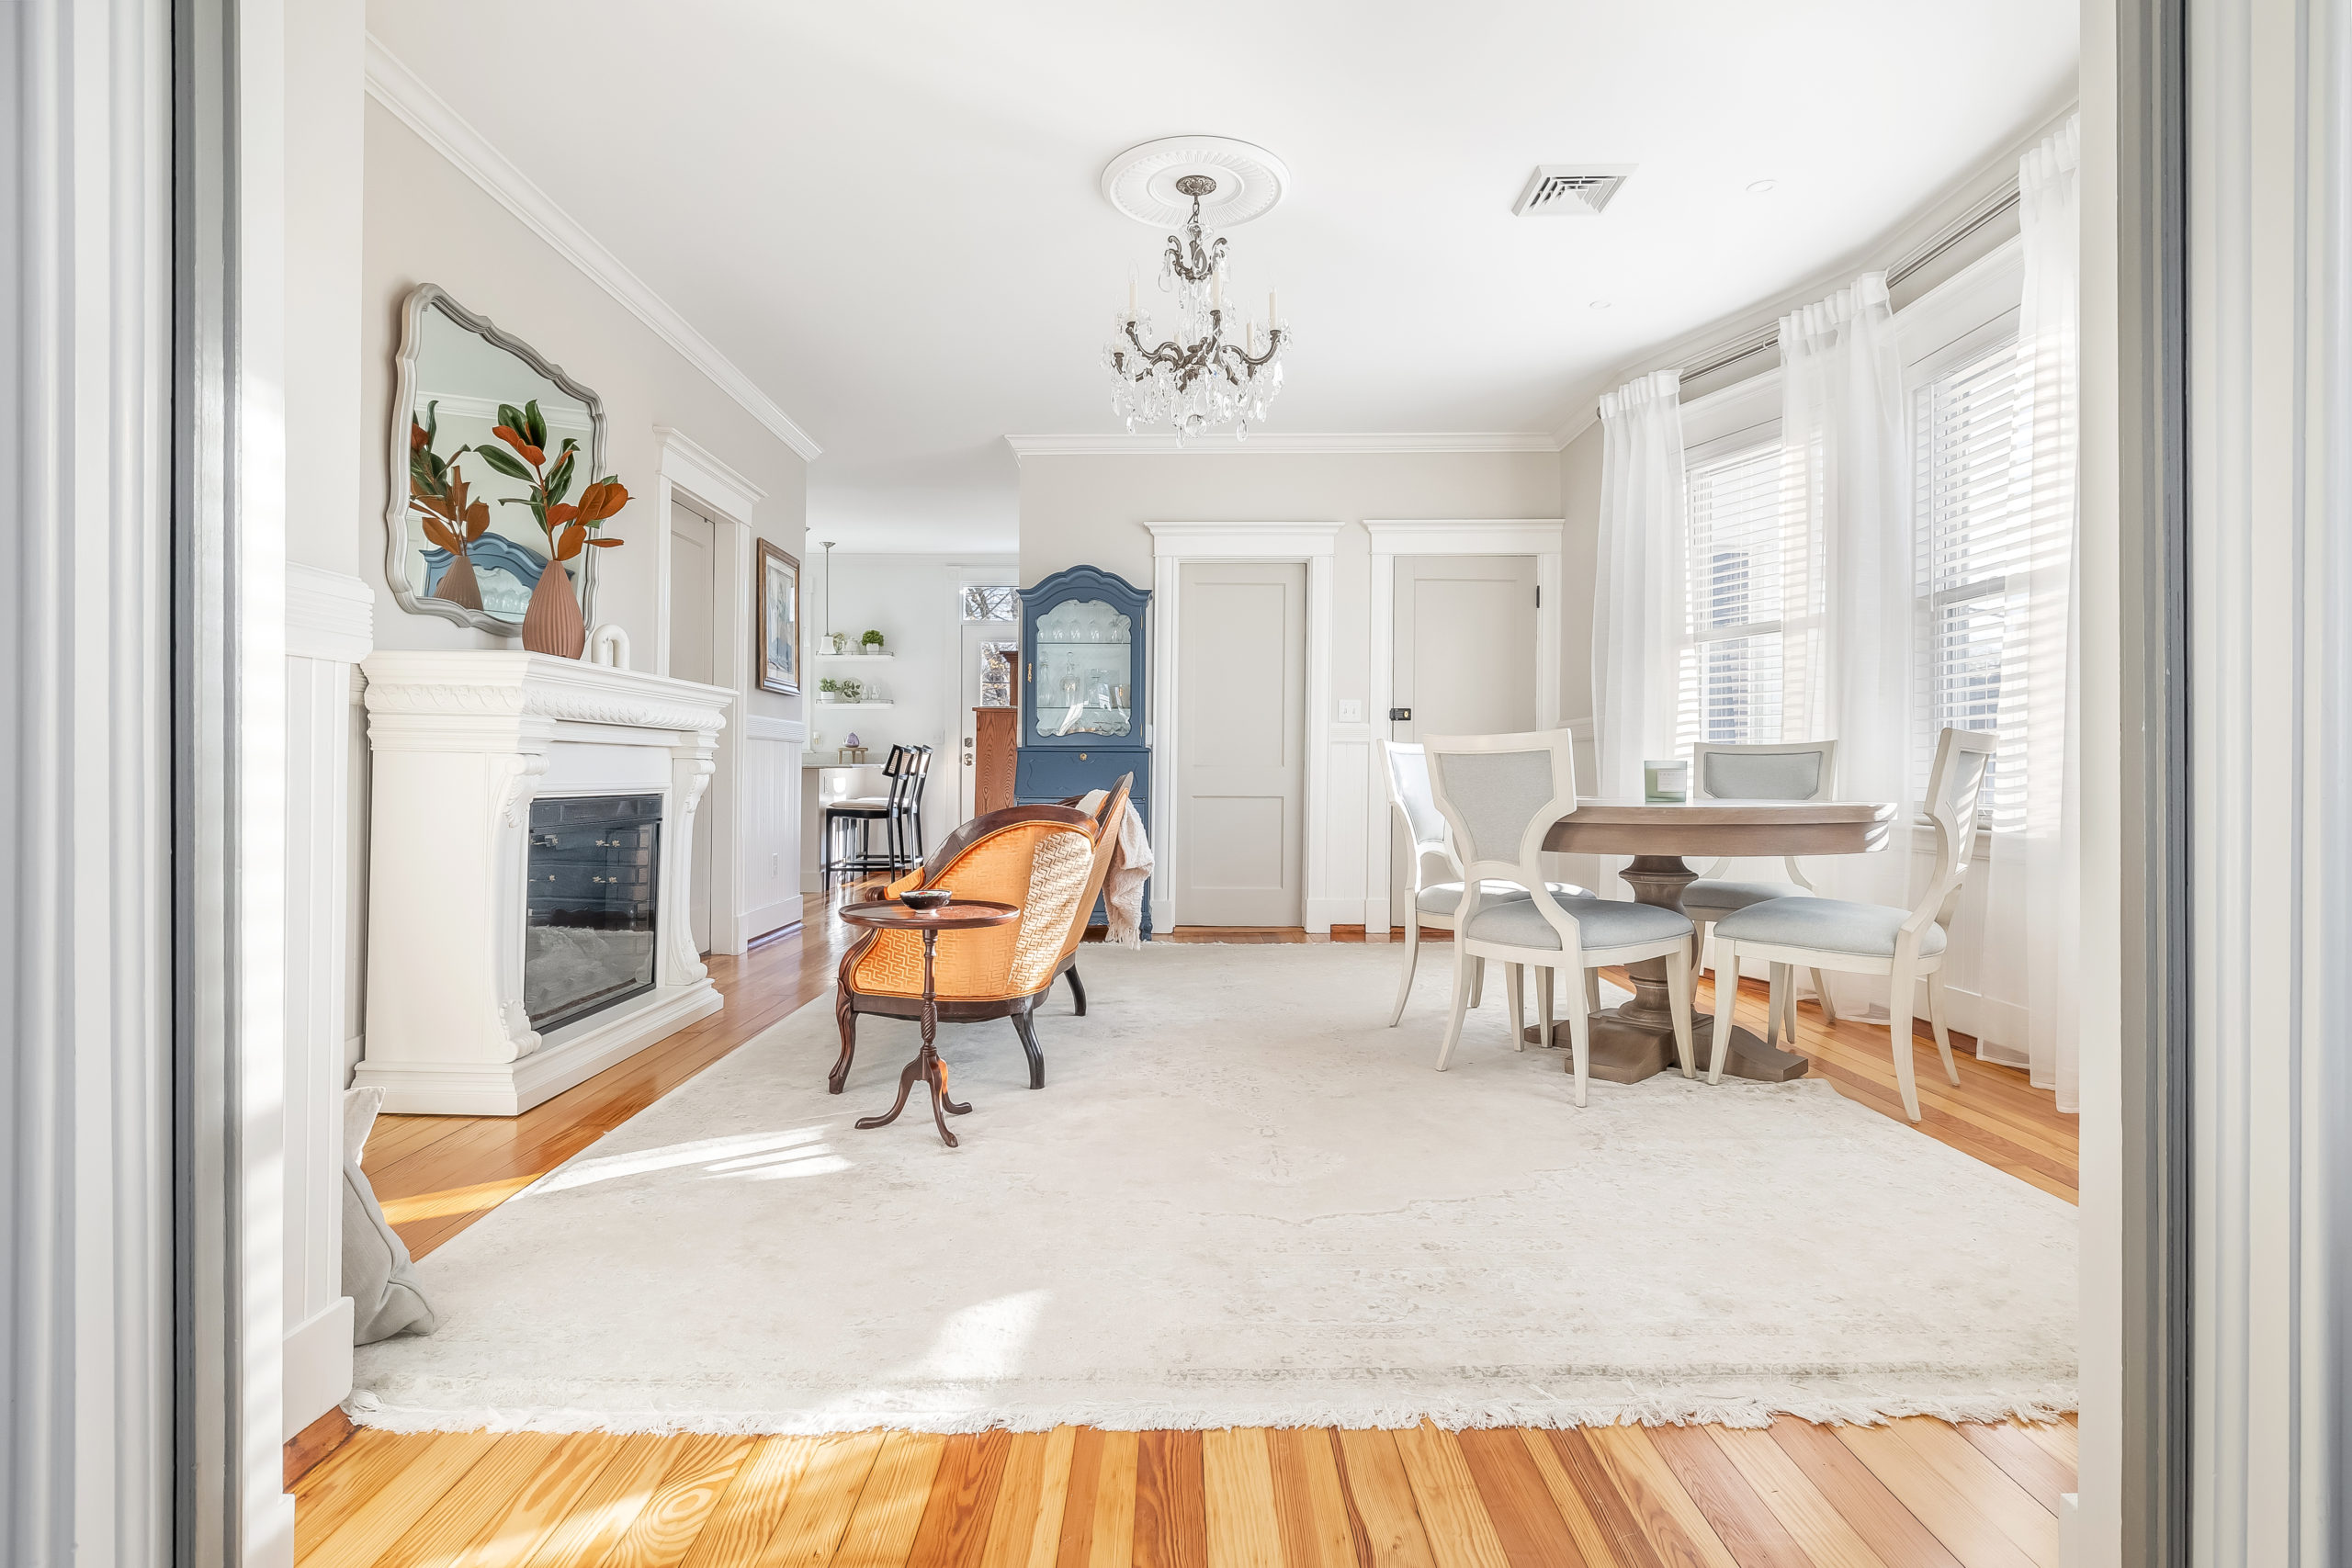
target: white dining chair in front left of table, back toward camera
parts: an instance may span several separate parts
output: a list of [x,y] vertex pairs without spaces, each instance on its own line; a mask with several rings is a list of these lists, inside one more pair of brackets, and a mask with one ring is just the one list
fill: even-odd
[[[1454,1013],[1437,1048],[1437,1070],[1446,1070],[1461,1044],[1470,966],[1479,959],[1501,959],[1512,973],[1566,971],[1571,994],[1583,997],[1590,997],[1592,971],[1602,964],[1665,959],[1675,1051],[1682,1056],[1682,1077],[1691,1077],[1691,922],[1653,903],[1559,898],[1543,879],[1543,839],[1552,823],[1576,811],[1576,743],[1569,731],[1432,736],[1423,748],[1430,795],[1463,867],[1463,900],[1454,926]],[[1489,882],[1512,884],[1517,896],[1494,898],[1486,893]],[[1510,992],[1510,1037],[1524,1051],[1517,980]],[[1592,1077],[1592,1009],[1569,1009],[1569,1072],[1576,1074],[1576,1103],[1583,1105]]]

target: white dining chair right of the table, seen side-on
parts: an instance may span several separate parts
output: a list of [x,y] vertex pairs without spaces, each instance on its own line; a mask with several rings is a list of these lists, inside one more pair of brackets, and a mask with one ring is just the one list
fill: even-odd
[[[1910,910],[1844,898],[1771,898],[1736,910],[1715,924],[1717,976],[1738,976],[1740,959],[1773,966],[1773,990],[1785,966],[1835,969],[1886,976],[1886,1034],[1896,1053],[1896,1086],[1903,1114],[1919,1119],[1919,1086],[1912,1081],[1910,1027],[1912,983],[1926,980],[1926,1018],[1943,1056],[1943,1077],[1959,1084],[1952,1034],[1945,1027],[1943,961],[1959,886],[1976,858],[1976,806],[1985,792],[1997,738],[1983,729],[1947,729],[1936,736],[1936,766],[1926,780],[1926,818],[1936,827],[1936,875]],[[1898,851],[1900,853],[1900,846]],[[1731,1044],[1731,1004],[1738,983],[1715,985],[1715,1060],[1708,1081],[1719,1084]],[[1778,997],[1771,1006],[1780,1006]]]

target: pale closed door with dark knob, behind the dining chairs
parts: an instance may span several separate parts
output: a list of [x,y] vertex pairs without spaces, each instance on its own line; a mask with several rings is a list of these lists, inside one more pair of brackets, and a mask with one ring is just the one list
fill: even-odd
[[[1536,726],[1536,557],[1399,555],[1390,741],[1508,736]],[[1395,832],[1388,907],[1411,907],[1411,846]]]

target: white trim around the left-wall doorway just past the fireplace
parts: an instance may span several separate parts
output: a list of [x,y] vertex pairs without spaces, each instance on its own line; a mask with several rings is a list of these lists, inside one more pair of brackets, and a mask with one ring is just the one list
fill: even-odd
[[710,520],[710,609],[717,618],[720,684],[734,691],[734,710],[720,731],[717,771],[703,799],[701,825],[710,835],[710,952],[743,952],[746,837],[743,741],[750,738],[750,541],[753,508],[764,489],[710,456],[689,435],[654,425],[654,675],[670,672],[670,503],[687,501]]

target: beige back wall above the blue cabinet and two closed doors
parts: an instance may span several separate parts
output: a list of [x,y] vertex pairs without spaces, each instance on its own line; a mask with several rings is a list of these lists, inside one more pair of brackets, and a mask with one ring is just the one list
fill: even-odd
[[[1021,583],[1063,567],[1117,571],[1152,585],[1148,522],[1348,522],[1364,517],[1559,517],[1562,461],[1550,451],[1289,454],[1021,458]],[[1599,480],[1595,477],[1595,484]],[[1345,527],[1331,562],[1331,698],[1369,693],[1371,536]],[[1590,545],[1569,550],[1562,639],[1592,642]],[[1585,679],[1566,712],[1592,705]]]

